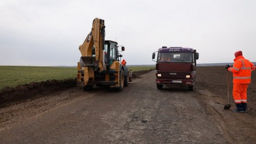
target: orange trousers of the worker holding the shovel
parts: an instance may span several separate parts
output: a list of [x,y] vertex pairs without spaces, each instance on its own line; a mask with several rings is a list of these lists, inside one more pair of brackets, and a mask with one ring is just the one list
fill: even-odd
[[233,83],[233,98],[235,103],[247,103],[247,88],[249,83]]

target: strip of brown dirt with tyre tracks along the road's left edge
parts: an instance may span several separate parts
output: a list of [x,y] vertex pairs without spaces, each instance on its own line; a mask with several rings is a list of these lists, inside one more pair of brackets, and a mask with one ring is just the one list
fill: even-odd
[[33,99],[14,103],[0,109],[0,130],[9,124],[13,124],[22,118],[31,117],[44,113],[55,106],[78,99],[85,98],[86,92],[80,87],[54,92],[48,95],[38,94]]

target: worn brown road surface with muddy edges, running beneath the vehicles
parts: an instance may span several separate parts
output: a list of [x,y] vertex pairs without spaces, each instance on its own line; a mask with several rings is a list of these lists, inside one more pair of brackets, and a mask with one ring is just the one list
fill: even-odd
[[[233,128],[232,112],[200,80],[194,92],[157,90],[155,72],[135,79],[121,92],[80,87],[0,108],[1,143],[250,143],[251,131]],[[225,94],[224,94],[225,95]],[[240,114],[241,115],[241,114]],[[228,117],[226,117],[228,116]],[[240,119],[241,120],[241,119]],[[238,119],[238,121],[240,121]],[[234,124],[231,123],[231,124]],[[231,129],[230,129],[231,128]],[[232,131],[233,130],[233,131]]]

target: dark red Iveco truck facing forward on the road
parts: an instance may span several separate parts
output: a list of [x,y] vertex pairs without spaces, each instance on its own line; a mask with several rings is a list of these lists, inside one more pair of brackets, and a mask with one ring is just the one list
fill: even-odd
[[[155,60],[157,53],[157,58]],[[196,61],[199,53],[187,47],[162,46],[152,54],[152,61],[156,62],[156,87],[162,89],[167,86],[187,86],[195,89]]]

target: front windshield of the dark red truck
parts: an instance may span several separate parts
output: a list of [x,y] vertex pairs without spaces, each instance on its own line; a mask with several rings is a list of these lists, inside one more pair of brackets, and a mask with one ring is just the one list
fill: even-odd
[[157,62],[192,63],[192,53],[158,52]]

